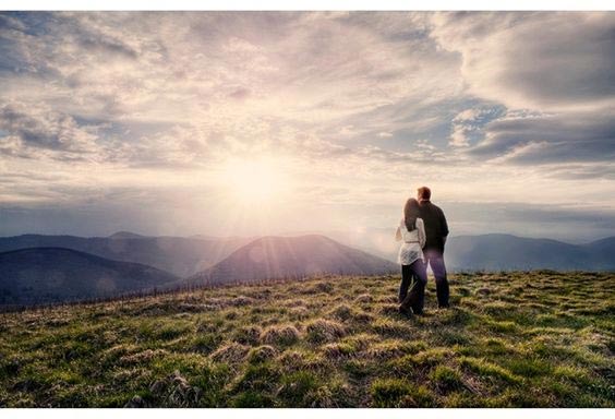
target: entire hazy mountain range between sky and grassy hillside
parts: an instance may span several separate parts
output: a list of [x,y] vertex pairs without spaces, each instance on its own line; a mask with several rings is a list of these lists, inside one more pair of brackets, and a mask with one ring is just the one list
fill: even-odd
[[[0,238],[0,307],[319,274],[397,273],[394,251],[322,235],[215,238],[23,235]],[[373,253],[385,255],[376,256]],[[615,237],[587,244],[510,235],[448,239],[449,271],[615,271]]]

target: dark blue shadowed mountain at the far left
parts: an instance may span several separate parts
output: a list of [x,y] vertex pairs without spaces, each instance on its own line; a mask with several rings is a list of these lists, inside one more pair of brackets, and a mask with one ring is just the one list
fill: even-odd
[[63,248],[0,253],[0,306],[111,297],[167,287],[179,278],[152,266]]

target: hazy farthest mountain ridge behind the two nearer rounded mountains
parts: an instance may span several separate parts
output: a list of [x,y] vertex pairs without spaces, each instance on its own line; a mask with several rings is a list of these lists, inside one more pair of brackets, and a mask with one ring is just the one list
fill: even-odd
[[[306,235],[318,236],[318,235]],[[390,236],[390,239],[388,239]],[[289,236],[281,236],[289,237]],[[148,237],[118,231],[109,237],[22,235],[0,237],[0,252],[35,247],[60,247],[101,258],[143,263],[190,277],[221,262],[232,252],[258,237]],[[399,243],[393,232],[379,231],[378,240],[369,237],[336,241],[372,255],[395,261]],[[505,234],[449,237],[445,259],[449,271],[535,270],[615,271],[615,237],[586,244],[558,240],[523,238]]]

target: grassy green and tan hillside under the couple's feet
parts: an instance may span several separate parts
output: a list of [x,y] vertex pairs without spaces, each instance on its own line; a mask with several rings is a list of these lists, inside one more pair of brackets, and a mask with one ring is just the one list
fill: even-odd
[[[228,287],[0,316],[0,406],[615,407],[615,275]],[[431,279],[432,280],[432,279]]]

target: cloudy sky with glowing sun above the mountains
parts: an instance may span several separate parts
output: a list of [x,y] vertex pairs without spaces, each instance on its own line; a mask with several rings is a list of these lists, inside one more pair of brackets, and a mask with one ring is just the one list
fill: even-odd
[[615,236],[614,12],[0,13],[0,236]]

